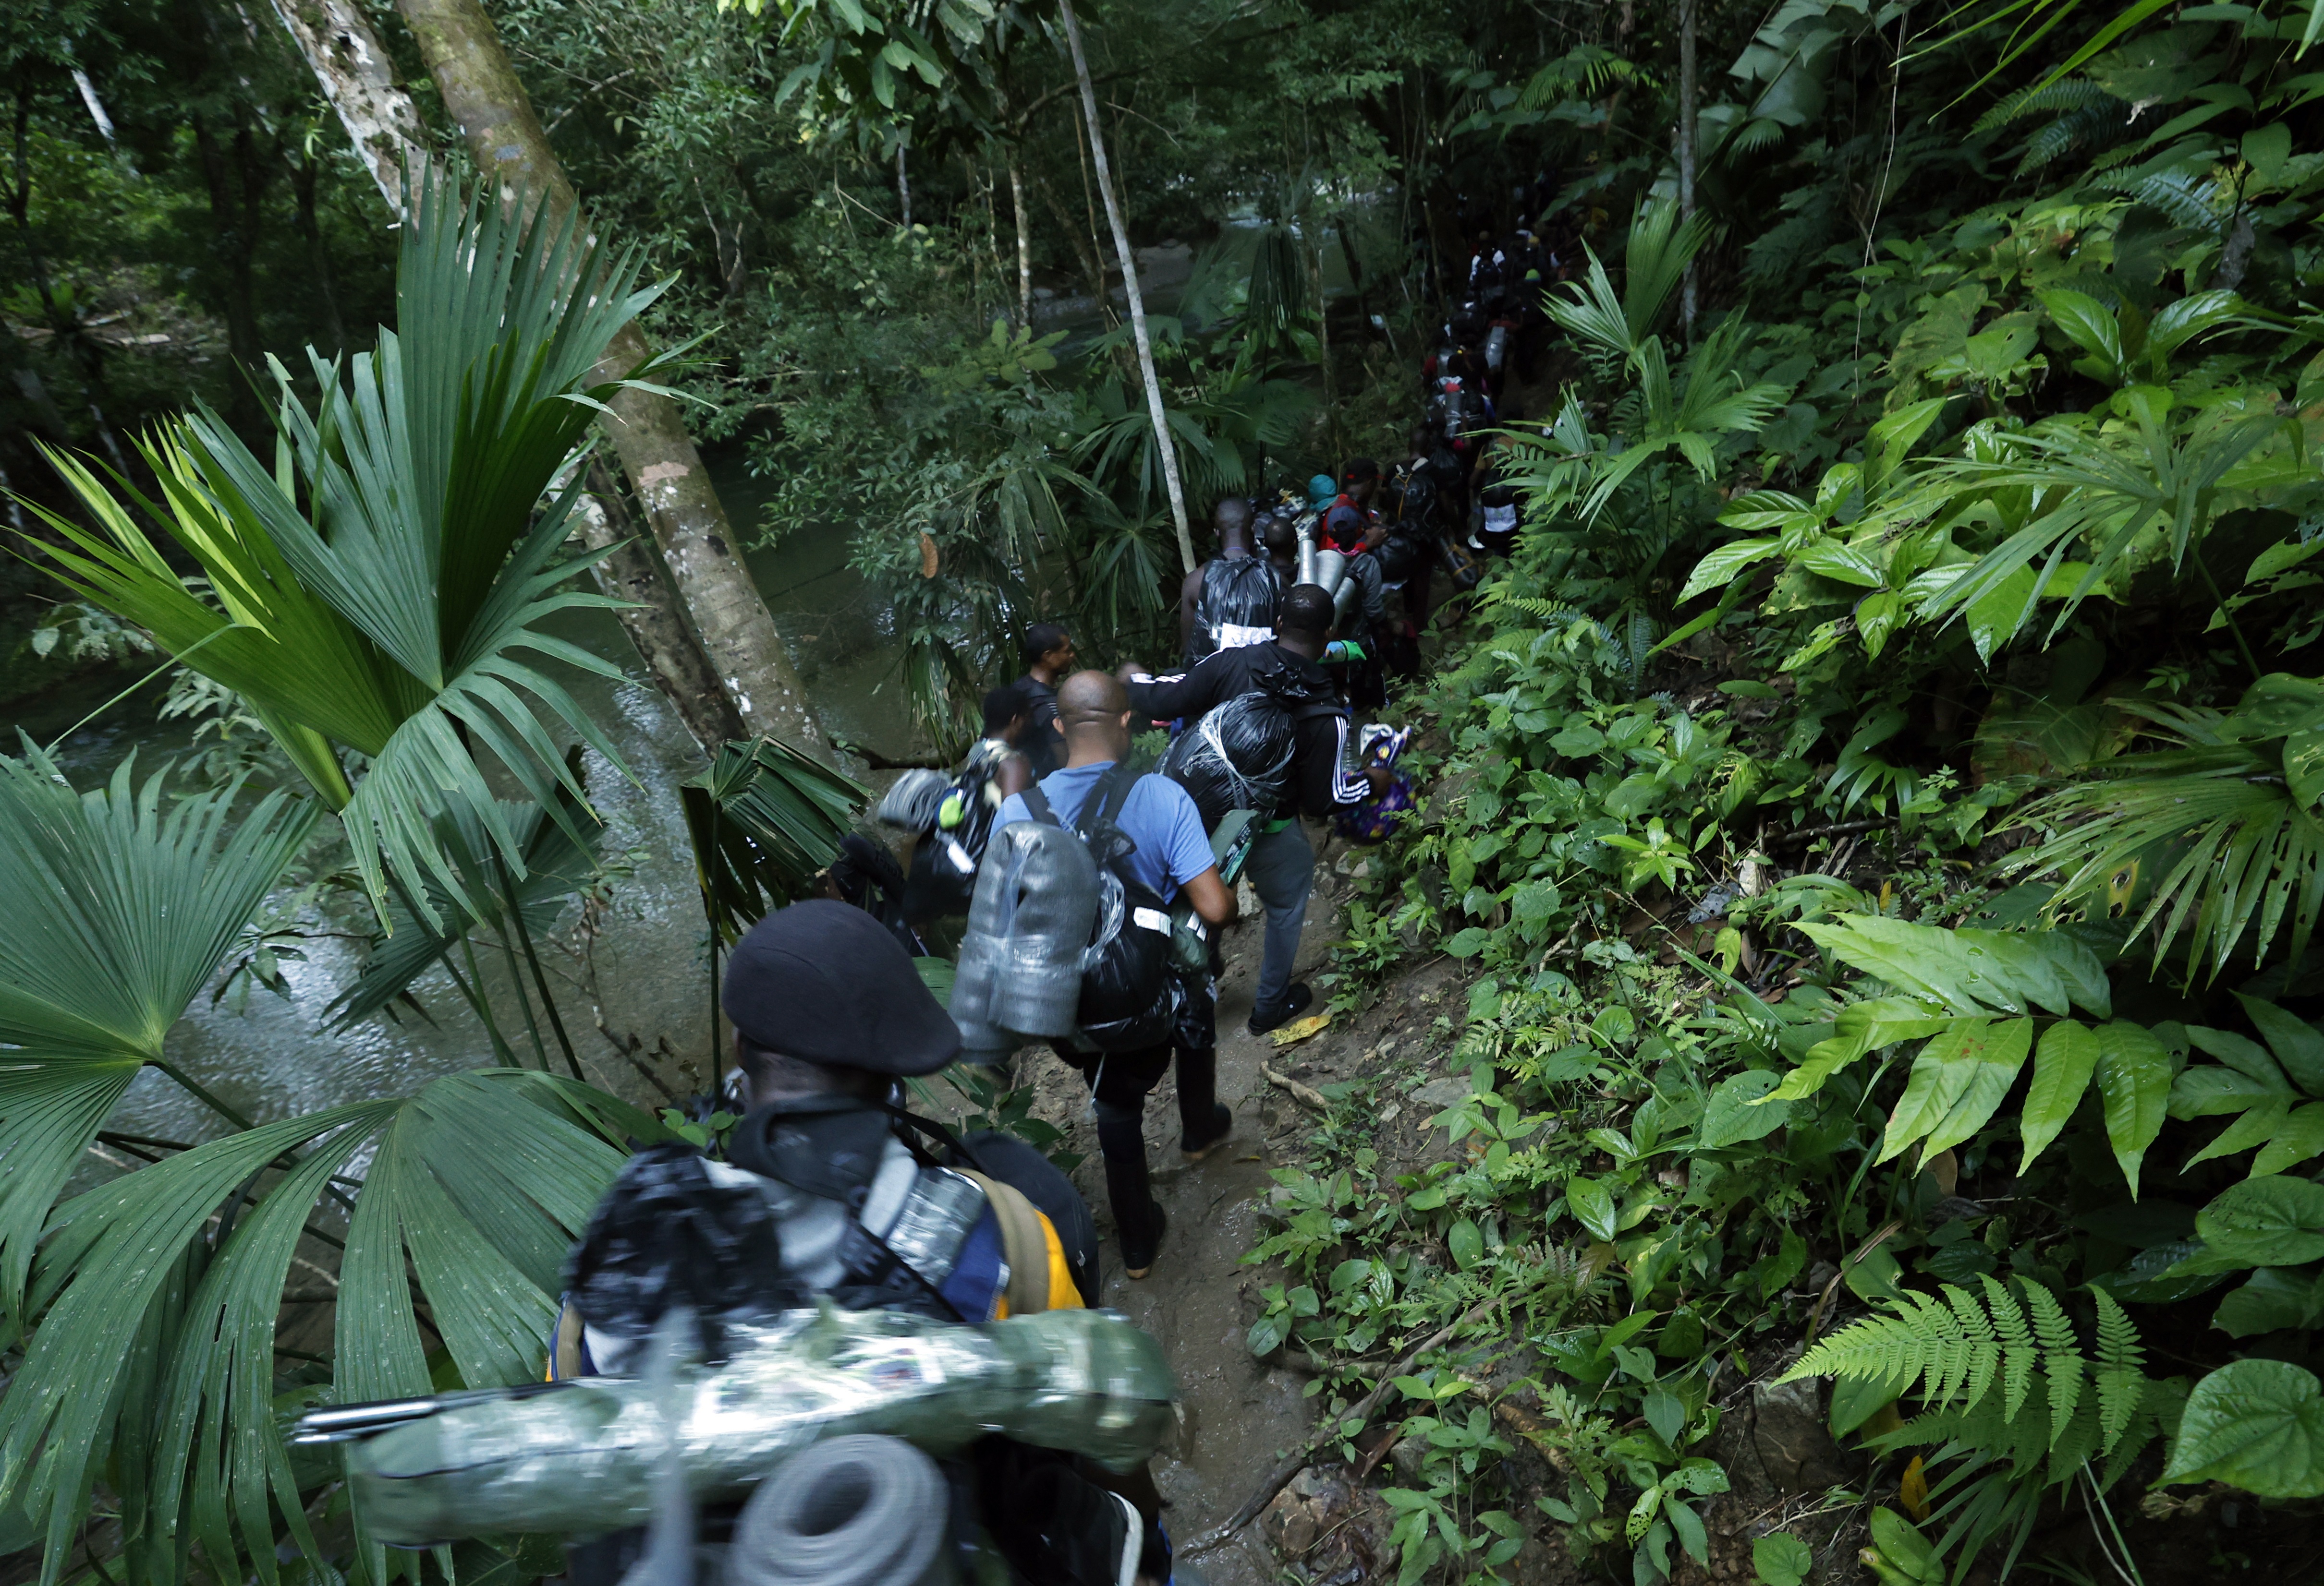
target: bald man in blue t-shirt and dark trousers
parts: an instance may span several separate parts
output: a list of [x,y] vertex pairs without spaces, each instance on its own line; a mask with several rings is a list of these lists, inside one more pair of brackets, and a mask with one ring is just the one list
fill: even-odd
[[[1129,694],[1104,671],[1076,671],[1057,687],[1057,729],[1064,734],[1064,766],[1041,778],[1041,796],[1060,824],[1081,817],[1097,780],[1129,755]],[[1025,794],[1011,794],[992,817],[992,829],[1032,820]],[[1211,838],[1202,831],[1195,799],[1167,776],[1141,776],[1122,801],[1118,820],[1136,848],[1120,862],[1132,880],[1164,903],[1178,892],[1208,927],[1234,920],[1234,892],[1218,878]],[[1215,1001],[1204,978],[1185,987],[1185,1010],[1171,1040],[1141,1052],[1074,1052],[1057,1057],[1081,1068],[1097,1101],[1097,1149],[1106,1159],[1106,1198],[1122,1240],[1122,1268],[1146,1277],[1162,1245],[1162,1207],[1146,1180],[1146,1096],[1178,1059],[1178,1149],[1188,1161],[1208,1156],[1234,1129],[1234,1115],[1218,1101]],[[1095,1300],[1092,1300],[1095,1303]]]

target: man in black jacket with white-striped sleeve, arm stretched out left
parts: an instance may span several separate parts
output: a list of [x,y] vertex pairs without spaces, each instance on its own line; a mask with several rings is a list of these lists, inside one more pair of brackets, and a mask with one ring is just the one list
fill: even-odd
[[[1260,810],[1264,822],[1243,875],[1267,906],[1267,952],[1250,1003],[1250,1033],[1262,1036],[1297,1017],[1315,994],[1292,982],[1299,931],[1315,882],[1315,850],[1299,817],[1327,820],[1387,785],[1387,771],[1348,771],[1348,711],[1320,664],[1332,636],[1332,597],[1313,583],[1283,594],[1274,643],[1239,646],[1204,657],[1192,671],[1129,683],[1129,706],[1148,718],[1183,715],[1192,727],[1206,711],[1236,694],[1274,694],[1292,713],[1292,773],[1283,801]],[[1125,666],[1134,671],[1134,666]]]

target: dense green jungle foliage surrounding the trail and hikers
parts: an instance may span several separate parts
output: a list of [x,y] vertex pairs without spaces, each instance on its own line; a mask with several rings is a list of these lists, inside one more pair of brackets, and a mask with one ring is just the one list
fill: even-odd
[[[769,483],[753,536],[846,539],[932,745],[1027,622],[1169,648],[1057,9],[488,9],[602,246],[458,179],[393,225],[256,2],[0,12],[5,687],[63,724],[170,657],[207,724],[86,790],[0,759],[0,1547],[44,1586],[562,1567],[374,1549],[281,1428],[537,1379],[623,1152],[709,1136],[581,1080],[535,947],[623,885],[558,680],[611,669],[555,629],[604,604],[565,464],[621,323],[688,348],[623,376]],[[1406,457],[1478,228],[1559,248],[1525,529],[1394,680],[1422,808],[1332,966],[1343,1019],[1439,959],[1464,1001],[1336,1087],[1253,1252],[1399,1586],[2315,1577],[2319,19],[1081,19],[1141,272],[1185,269],[1197,520]],[[716,947],[865,792],[760,743],[683,796]],[[172,1024],[302,929],[372,940],[332,1031],[442,968],[490,1066],[209,1094]],[[1432,1066],[1443,1149],[1390,1159]],[[214,1126],[107,1129],[146,1070]],[[1387,1370],[1418,1458],[1336,1421]],[[1827,1379],[1836,1482],[1745,1507],[1734,1426]]]

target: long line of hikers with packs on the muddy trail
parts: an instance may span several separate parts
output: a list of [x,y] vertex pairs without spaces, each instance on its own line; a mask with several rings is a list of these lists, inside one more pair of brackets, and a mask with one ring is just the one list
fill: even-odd
[[[516,1398],[479,1407],[479,1396],[311,1414],[304,1442],[376,1437],[351,1470],[381,1535],[509,1530],[528,1502],[548,1502],[539,1461],[553,1440],[537,1428],[558,1423],[579,1428],[583,1463],[611,1470],[660,1449],[651,1458],[681,1477],[658,1482],[651,1526],[637,1488],[604,1512],[604,1535],[567,1553],[574,1586],[693,1581],[697,1567],[823,1581],[809,1553],[853,1586],[1171,1581],[1146,1463],[1167,1421],[1148,1414],[1153,1372],[1090,1368],[1102,1347],[1136,1358],[1118,1338],[1127,1321],[1085,1312],[1104,1293],[1090,1207],[1023,1140],[913,1112],[911,1084],[962,1061],[1009,1082],[1020,1052],[1046,1045],[1090,1094],[1122,1273],[1143,1279],[1167,1259],[1143,1115],[1174,1075],[1181,1156],[1204,1161],[1234,1136],[1218,1096],[1218,978],[1239,887],[1260,913],[1246,1031],[1264,1036],[1315,1001],[1297,980],[1311,834],[1378,843],[1413,808],[1397,771],[1406,734],[1362,718],[1420,669],[1422,634],[1457,615],[1480,564],[1515,541],[1494,425],[1515,418],[1506,381],[1532,360],[1511,309],[1538,295],[1529,246],[1480,244],[1476,300],[1427,358],[1404,460],[1355,457],[1304,490],[1215,504],[1215,553],[1178,587],[1167,664],[1088,669],[1064,627],[1025,632],[1023,676],[983,697],[983,731],[957,769],[911,771],[883,796],[881,822],[909,834],[904,862],[851,834],[827,896],[767,915],[730,954],[720,1005],[737,1080],[720,1101],[741,1119],[723,1154],[639,1149],[567,1256],[551,1382],[676,1384],[681,1361],[718,1372],[758,1358],[765,1370],[732,1377],[706,1412],[734,1435],[788,1435],[781,1416],[795,1410],[760,1398],[806,1393],[809,1375],[848,1405],[851,1426],[920,1430],[818,1444],[737,1484],[716,1475],[716,1440],[667,1407],[676,1386],[653,1412],[660,1430],[597,1412],[558,1421],[567,1412]],[[1153,729],[1167,748],[1146,771],[1134,745]],[[939,1001],[923,968],[948,938],[957,961]],[[976,1400],[985,1410],[937,1435],[937,1419],[960,1412],[934,1407],[946,1375],[930,1335],[902,1324],[844,1335],[832,1307],[983,1333],[1069,1326],[1011,1335],[1011,1370],[1032,1384],[1025,1414]],[[502,1437],[507,1458],[479,1454],[476,1475],[446,1477],[451,1433],[409,1430],[437,1414],[479,1449]],[[425,1519],[395,1521],[395,1491]]]

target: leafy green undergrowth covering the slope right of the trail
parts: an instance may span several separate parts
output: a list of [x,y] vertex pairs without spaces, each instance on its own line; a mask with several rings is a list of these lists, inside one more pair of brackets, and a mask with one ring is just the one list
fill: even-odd
[[[1455,959],[1466,1096],[1420,1159],[1343,1098],[1250,1254],[1250,1347],[1325,1365],[1327,1414],[1457,1324],[1394,1379],[1404,1586],[1538,1533],[1641,1586],[1708,1565],[1745,1523],[1722,1414],[1787,1375],[1831,1379],[1880,1579],[2082,1567],[2066,1530],[2147,1579],[2205,1484],[2324,1495],[2312,344],[2189,293],[2133,358],[2103,279],[1994,265],[2020,221],[1848,272],[1894,385],[1780,453],[1822,379],[1785,327],[1680,351],[1604,272],[1552,311],[1585,374],[1401,701],[1422,810],[1332,975],[1350,1015]],[[1645,211],[1627,279],[1685,248]],[[1964,274],[2089,383],[1903,379]]]

